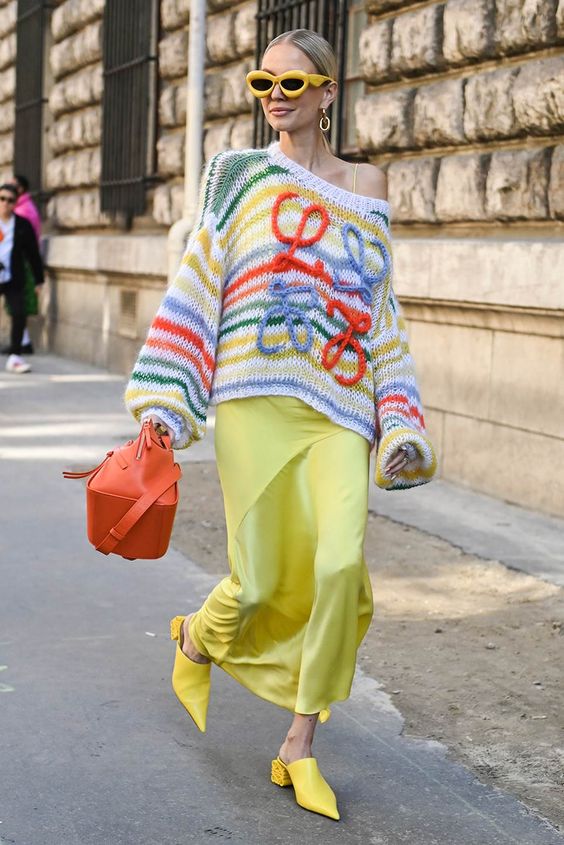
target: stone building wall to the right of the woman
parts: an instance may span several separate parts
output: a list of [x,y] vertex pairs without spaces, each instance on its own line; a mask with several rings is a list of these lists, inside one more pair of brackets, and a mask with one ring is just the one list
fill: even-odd
[[564,516],[564,2],[367,9],[359,143],[442,475]]

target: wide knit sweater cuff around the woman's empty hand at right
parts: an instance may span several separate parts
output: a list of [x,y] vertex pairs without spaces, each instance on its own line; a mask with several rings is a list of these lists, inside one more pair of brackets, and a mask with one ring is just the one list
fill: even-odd
[[[395,478],[384,474],[390,458],[404,443],[411,443],[417,449],[419,461],[407,464]],[[431,442],[411,428],[392,429],[378,444],[376,453],[376,474],[374,481],[383,490],[406,490],[431,481],[437,469],[437,458]]]

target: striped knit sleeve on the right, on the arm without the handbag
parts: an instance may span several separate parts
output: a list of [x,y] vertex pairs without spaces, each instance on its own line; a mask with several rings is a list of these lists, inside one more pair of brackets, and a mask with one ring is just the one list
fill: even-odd
[[[435,473],[436,458],[425,434],[405,322],[391,287],[374,338],[373,357],[378,430],[376,484],[386,490],[425,484]],[[420,460],[408,464],[395,479],[390,479],[384,475],[384,469],[398,446],[404,443],[415,446]]]

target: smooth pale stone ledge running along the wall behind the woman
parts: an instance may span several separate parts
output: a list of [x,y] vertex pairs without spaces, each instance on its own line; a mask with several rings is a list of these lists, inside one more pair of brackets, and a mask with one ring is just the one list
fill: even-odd
[[[50,235],[53,271],[167,276],[167,236]],[[564,310],[564,242],[522,238],[402,238],[393,242],[394,288],[405,300]]]

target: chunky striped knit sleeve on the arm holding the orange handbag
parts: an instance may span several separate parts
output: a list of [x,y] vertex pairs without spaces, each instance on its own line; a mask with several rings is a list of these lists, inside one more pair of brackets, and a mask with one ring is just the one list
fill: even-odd
[[227,175],[228,154],[220,153],[202,180],[196,224],[125,392],[133,416],[158,415],[174,432],[177,449],[205,433],[224,280],[217,224]]

